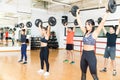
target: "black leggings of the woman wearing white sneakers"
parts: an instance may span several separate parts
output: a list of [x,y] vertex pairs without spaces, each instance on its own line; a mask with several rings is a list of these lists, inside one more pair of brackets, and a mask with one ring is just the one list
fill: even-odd
[[41,47],[41,50],[40,50],[41,69],[44,69],[44,61],[45,61],[47,72],[49,72],[48,58],[49,58],[49,49],[48,49],[48,47]]

